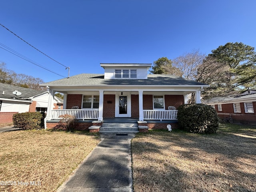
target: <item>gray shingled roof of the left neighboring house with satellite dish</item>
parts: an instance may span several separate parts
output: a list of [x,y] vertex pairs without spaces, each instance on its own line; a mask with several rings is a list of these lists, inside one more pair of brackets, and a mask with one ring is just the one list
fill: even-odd
[[[14,94],[12,94],[12,92],[14,92],[14,90],[21,92],[20,96],[16,96],[16,98],[19,100],[25,100],[22,98],[29,98],[29,97],[46,92],[46,91],[39,91],[39,90],[28,89],[24,87],[0,83],[0,98],[13,99]],[[4,91],[4,94],[2,94],[3,91]]]

